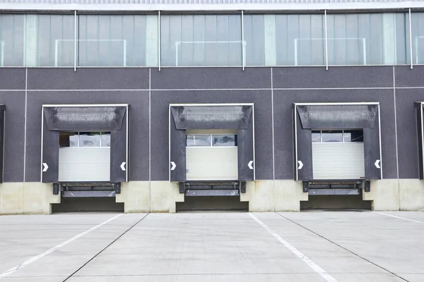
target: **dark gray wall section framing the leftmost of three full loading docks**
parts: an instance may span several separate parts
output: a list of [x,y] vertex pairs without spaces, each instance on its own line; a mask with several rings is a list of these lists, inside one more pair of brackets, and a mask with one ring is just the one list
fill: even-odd
[[[130,104],[130,180],[148,180],[149,70],[28,69],[26,181],[40,181],[42,104]],[[79,90],[79,91],[78,91]]]

